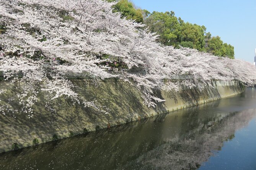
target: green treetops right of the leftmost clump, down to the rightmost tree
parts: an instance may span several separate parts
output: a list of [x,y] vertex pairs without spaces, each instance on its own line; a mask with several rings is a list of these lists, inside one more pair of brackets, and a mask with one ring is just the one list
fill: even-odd
[[220,37],[209,37],[204,26],[184,22],[174,12],[153,12],[144,21],[150,31],[160,35],[158,42],[174,47],[194,48],[216,56],[234,58],[234,47],[222,42]]

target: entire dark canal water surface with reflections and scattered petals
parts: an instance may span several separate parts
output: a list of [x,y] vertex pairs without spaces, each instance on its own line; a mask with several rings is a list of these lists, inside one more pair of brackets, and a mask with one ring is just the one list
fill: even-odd
[[0,170],[256,170],[256,89],[18,151]]

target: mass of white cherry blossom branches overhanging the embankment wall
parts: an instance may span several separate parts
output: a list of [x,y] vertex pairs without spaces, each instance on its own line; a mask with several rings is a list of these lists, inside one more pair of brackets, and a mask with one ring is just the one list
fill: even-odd
[[[51,100],[65,96],[103,111],[74,91],[64,76],[69,72],[88,72],[96,77],[94,81],[111,77],[128,81],[142,91],[145,104],[153,107],[164,101],[154,95],[156,88],[177,91],[180,85],[192,88],[211,79],[253,85],[256,80],[255,67],[245,61],[156,43],[155,33],[143,24],[121,19],[112,12],[114,3],[104,0],[0,0],[0,4],[0,71],[23,71],[26,74],[13,81],[33,82],[17,96],[29,116],[34,114],[31,108],[39,91],[51,93]],[[142,69],[143,74],[110,74],[109,66],[102,64],[114,62],[110,56],[128,69]],[[42,72],[46,68],[56,74],[47,77]],[[163,81],[186,74],[194,79]],[[5,80],[10,77],[11,73]]]

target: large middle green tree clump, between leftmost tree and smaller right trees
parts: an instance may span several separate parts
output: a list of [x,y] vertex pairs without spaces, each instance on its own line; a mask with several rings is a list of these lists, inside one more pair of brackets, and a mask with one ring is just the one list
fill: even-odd
[[151,32],[157,32],[160,35],[158,41],[164,45],[179,45],[188,48],[195,48],[204,51],[205,30],[204,26],[184,23],[181,18],[177,18],[173,11],[160,13],[154,11],[145,19],[145,24]]

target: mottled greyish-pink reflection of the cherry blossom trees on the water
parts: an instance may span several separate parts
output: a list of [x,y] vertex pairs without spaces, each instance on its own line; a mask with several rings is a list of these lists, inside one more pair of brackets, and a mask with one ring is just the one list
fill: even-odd
[[[135,162],[142,169],[197,169],[214,154],[213,151],[220,151],[223,143],[232,140],[236,130],[248,125],[255,116],[256,109],[250,109],[202,122],[183,138],[168,138],[165,144],[143,154]],[[127,164],[126,167],[133,165]]]

